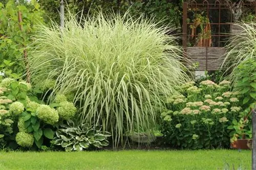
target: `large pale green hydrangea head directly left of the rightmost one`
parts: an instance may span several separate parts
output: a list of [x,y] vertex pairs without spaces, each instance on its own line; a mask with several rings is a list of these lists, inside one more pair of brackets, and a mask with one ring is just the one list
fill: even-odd
[[40,105],[36,113],[39,119],[50,125],[54,125],[59,120],[58,112],[48,105]]

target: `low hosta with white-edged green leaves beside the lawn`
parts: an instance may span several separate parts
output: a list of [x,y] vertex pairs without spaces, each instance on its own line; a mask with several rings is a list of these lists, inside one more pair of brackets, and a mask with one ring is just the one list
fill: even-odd
[[[68,126],[67,126],[68,125]],[[102,148],[109,145],[108,132],[102,132],[100,127],[90,127],[89,124],[75,125],[68,120],[67,125],[62,125],[56,131],[54,138],[56,145],[61,145],[66,151],[82,151],[90,146]]]

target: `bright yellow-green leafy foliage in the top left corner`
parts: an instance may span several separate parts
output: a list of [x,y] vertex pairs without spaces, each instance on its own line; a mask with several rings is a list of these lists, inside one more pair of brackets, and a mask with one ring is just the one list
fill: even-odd
[[[35,25],[43,23],[39,4],[32,1],[30,4],[15,3],[8,1],[5,5],[0,3],[0,70],[5,76],[18,78],[24,74],[25,63],[23,60],[24,47],[31,41],[35,31]],[[20,31],[18,25],[18,14],[22,13]]]

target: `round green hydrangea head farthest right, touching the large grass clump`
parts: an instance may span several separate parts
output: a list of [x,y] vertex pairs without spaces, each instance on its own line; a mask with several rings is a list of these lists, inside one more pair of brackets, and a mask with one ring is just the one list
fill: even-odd
[[76,107],[71,102],[61,102],[57,108],[57,111],[59,113],[59,117],[68,120],[74,117],[76,113]]

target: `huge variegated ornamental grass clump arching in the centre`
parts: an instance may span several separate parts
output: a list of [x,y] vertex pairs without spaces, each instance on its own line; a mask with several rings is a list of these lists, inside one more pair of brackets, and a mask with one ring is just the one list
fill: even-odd
[[128,13],[68,18],[65,29],[38,28],[28,55],[32,80],[55,79],[52,100],[74,93],[80,123],[102,125],[116,144],[135,126],[152,128],[156,103],[187,77],[169,27]]

